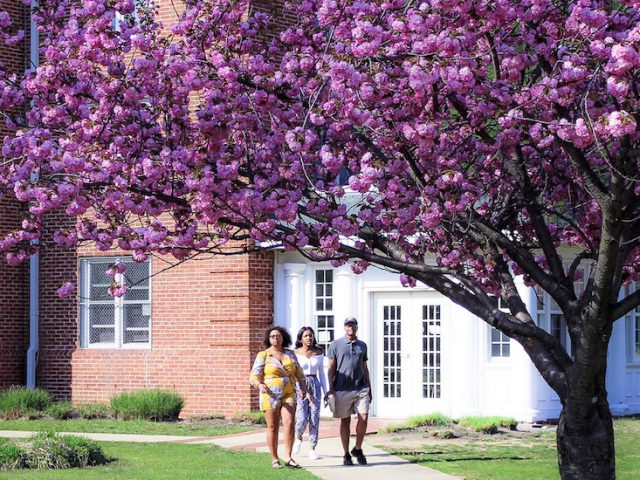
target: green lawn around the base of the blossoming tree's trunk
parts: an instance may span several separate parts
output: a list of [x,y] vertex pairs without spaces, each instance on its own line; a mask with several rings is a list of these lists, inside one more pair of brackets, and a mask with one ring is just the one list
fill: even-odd
[[[614,422],[618,480],[640,478],[640,418]],[[392,451],[392,450],[389,450]],[[555,433],[521,439],[485,435],[467,444],[426,445],[392,451],[407,460],[466,480],[555,480],[558,475]]]

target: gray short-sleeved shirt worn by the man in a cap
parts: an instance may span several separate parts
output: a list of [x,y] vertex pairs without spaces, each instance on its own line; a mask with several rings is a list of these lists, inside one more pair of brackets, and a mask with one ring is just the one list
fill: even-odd
[[364,362],[369,360],[367,344],[362,340],[349,342],[346,337],[338,338],[329,345],[327,357],[336,361],[334,390],[353,391],[369,386],[364,377]]

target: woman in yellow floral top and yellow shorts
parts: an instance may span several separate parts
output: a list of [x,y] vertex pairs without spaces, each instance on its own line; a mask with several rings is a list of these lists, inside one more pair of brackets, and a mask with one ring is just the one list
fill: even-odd
[[264,350],[258,352],[250,375],[251,384],[260,391],[260,410],[264,411],[267,420],[267,444],[273,468],[282,467],[278,459],[278,428],[281,416],[284,449],[288,458],[285,466],[300,468],[291,458],[296,415],[296,381],[300,385],[303,398],[313,402],[296,355],[287,349],[290,345],[289,332],[282,327],[269,327],[262,341]]

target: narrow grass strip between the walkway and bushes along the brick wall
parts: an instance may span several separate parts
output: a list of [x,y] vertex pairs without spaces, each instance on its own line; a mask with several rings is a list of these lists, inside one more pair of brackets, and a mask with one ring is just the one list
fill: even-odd
[[0,420],[0,430],[51,430],[85,433],[143,433],[149,435],[183,435],[214,437],[246,432],[254,427],[209,425],[198,422],[149,422],[146,420]]

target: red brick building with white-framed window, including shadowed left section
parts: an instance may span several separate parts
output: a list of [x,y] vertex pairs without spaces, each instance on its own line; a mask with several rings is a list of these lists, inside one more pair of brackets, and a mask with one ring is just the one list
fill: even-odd
[[[14,0],[0,6],[30,31],[28,7]],[[156,7],[165,23],[175,18],[172,2]],[[28,35],[15,47],[1,46],[4,68],[29,68],[29,46]],[[0,135],[7,133],[0,126]],[[0,235],[18,224],[19,209],[0,203]],[[0,390],[27,383],[31,365],[36,386],[76,403],[158,387],[184,395],[185,415],[250,410],[255,392],[248,371],[273,321],[273,255],[209,256],[180,265],[154,257],[136,264],[121,251],[56,247],[50,235],[65,221],[49,218],[51,231],[31,266],[0,264]],[[127,274],[142,280],[123,299],[106,295],[104,271],[116,259],[131,262]],[[79,298],[57,296],[66,281],[78,285]],[[37,336],[30,325],[37,325]]]

